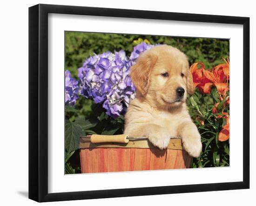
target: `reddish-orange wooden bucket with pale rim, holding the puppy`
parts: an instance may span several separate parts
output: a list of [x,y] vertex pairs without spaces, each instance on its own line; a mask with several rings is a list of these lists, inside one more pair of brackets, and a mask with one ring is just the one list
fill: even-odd
[[82,173],[105,173],[189,168],[191,157],[182,150],[181,139],[171,139],[168,149],[160,150],[148,140],[122,143],[91,143],[80,138]]

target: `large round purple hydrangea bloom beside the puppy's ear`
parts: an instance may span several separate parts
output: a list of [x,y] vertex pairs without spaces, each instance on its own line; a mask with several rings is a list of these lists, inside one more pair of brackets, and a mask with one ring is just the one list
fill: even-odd
[[114,118],[124,114],[129,101],[135,97],[130,65],[123,50],[89,57],[78,69],[81,95],[102,103],[106,113]]

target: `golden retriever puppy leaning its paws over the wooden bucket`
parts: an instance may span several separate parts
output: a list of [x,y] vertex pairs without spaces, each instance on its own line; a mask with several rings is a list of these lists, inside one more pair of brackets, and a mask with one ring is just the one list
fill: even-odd
[[125,115],[124,133],[146,136],[160,149],[168,147],[171,136],[180,136],[189,155],[198,157],[201,136],[186,106],[187,93],[194,92],[186,55],[171,46],[155,46],[141,53],[130,76],[136,96]]

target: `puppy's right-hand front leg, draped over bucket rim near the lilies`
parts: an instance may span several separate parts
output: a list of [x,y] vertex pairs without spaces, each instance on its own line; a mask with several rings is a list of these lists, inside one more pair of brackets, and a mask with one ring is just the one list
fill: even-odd
[[195,124],[191,121],[182,122],[178,127],[184,149],[192,157],[199,157],[202,151],[201,136]]

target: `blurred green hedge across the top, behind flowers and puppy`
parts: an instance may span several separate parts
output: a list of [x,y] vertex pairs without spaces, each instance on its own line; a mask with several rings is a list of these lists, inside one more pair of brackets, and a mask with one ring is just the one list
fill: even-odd
[[150,44],[168,44],[184,52],[190,65],[202,61],[206,68],[223,63],[229,56],[229,40],[149,36],[137,34],[65,32],[65,69],[75,77],[77,69],[90,55],[123,49],[129,56],[135,46],[134,40],[147,39]]

